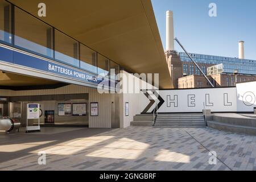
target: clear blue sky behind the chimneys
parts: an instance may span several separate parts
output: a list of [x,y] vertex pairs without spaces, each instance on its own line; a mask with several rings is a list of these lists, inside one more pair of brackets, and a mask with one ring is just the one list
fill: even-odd
[[[188,52],[238,57],[245,41],[245,58],[256,60],[256,0],[151,0],[166,47],[166,11],[174,11],[174,36]],[[217,17],[210,18],[209,3]],[[181,51],[175,43],[175,49]]]

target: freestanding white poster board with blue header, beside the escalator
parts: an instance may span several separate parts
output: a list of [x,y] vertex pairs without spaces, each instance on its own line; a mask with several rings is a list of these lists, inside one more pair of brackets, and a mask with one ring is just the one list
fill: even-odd
[[[30,131],[40,131],[40,104],[27,104],[27,126],[26,133]],[[28,126],[28,120],[38,119],[38,125]],[[34,122],[33,122],[34,123]]]

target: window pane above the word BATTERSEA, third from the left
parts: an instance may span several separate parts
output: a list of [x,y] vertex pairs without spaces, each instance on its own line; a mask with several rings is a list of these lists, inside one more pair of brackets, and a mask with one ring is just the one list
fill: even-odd
[[79,67],[79,43],[55,30],[55,60]]

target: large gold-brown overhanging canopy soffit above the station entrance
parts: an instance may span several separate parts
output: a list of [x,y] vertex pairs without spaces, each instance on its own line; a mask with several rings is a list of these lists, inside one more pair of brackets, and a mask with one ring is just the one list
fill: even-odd
[[10,0],[133,73],[159,73],[159,87],[171,88],[151,1],[51,1],[38,17],[39,0]]

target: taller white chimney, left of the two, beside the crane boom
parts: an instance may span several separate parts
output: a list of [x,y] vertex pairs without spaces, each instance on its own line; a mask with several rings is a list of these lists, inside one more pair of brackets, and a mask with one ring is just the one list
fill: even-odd
[[174,14],[166,11],[166,51],[174,51]]

